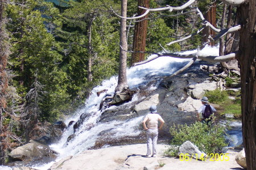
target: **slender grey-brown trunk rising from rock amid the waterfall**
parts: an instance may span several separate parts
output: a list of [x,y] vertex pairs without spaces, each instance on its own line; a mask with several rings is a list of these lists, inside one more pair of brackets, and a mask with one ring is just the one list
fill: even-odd
[[[121,1],[121,16],[126,17],[127,0]],[[119,47],[119,73],[118,83],[115,87],[115,94],[118,94],[128,88],[126,67],[127,67],[127,41],[126,41],[126,19],[121,18],[120,24],[120,47]]]

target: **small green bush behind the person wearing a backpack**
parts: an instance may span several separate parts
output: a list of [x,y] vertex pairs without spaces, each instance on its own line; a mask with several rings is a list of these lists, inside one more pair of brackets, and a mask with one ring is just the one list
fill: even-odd
[[208,97],[210,103],[222,103],[226,99],[228,99],[228,94],[226,91],[221,91],[220,89],[216,89],[213,91],[205,92],[205,96]]

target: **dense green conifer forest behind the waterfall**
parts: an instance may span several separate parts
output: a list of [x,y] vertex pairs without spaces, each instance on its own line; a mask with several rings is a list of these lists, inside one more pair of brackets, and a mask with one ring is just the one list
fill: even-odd
[[[1,1],[1,34],[5,42],[8,84],[1,109],[1,161],[16,146],[38,138],[49,123],[72,114],[84,104],[93,87],[118,74],[119,18],[117,0],[10,0]],[[187,1],[150,0],[150,7],[180,6]],[[199,1],[203,14],[216,5],[217,27],[221,25],[224,4]],[[128,1],[127,16],[137,13],[137,0]],[[230,9],[236,14],[236,8]],[[202,34],[170,46],[168,42],[186,32],[196,32],[196,14],[157,18],[150,14],[146,51],[169,52],[195,49]],[[229,15],[235,18],[235,15]],[[228,12],[224,14],[228,18]],[[134,21],[127,26],[128,49],[133,47]],[[198,23],[199,24],[199,23]],[[213,45],[213,44],[212,44]],[[3,49],[3,48],[2,48]],[[147,56],[146,56],[147,57]],[[127,64],[131,66],[131,53]]]

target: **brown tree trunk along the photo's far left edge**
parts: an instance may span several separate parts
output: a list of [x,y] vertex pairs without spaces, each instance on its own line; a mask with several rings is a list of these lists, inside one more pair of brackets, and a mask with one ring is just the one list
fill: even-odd
[[[6,18],[4,17],[4,10],[7,4],[6,0],[0,1],[0,134],[3,133],[4,127],[2,125],[3,113],[6,108],[6,94],[8,87],[8,76],[6,73],[7,59],[9,56],[9,44],[7,43],[7,34],[5,31]],[[0,136],[0,165],[5,163],[5,146],[2,145],[4,138]]]

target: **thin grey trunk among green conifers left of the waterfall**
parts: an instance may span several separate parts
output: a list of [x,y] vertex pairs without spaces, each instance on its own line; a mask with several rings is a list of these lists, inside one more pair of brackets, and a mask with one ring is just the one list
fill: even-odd
[[92,23],[95,18],[90,19],[88,24],[88,51],[89,51],[89,58],[88,58],[88,75],[87,80],[88,82],[92,82]]

